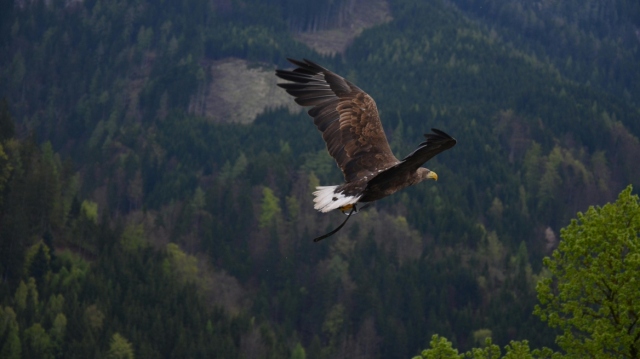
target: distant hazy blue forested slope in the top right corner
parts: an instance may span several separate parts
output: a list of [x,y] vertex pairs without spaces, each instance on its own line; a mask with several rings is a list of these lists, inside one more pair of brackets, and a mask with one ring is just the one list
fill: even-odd
[[[638,104],[640,5],[633,0],[455,0],[523,49],[546,57],[564,76]],[[631,125],[631,124],[628,124]],[[637,127],[635,132],[637,133]]]

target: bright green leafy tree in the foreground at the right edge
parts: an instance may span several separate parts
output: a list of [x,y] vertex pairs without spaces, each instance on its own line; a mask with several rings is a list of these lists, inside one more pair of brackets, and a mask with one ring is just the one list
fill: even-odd
[[640,353],[640,202],[631,189],[614,203],[578,213],[544,260],[551,276],[538,284],[535,313],[562,330],[557,342],[571,356]]

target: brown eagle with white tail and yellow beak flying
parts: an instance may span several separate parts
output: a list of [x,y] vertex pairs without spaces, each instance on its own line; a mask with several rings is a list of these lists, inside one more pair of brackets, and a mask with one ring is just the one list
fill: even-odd
[[357,203],[368,203],[405,187],[438,175],[421,165],[442,151],[455,146],[456,140],[437,129],[425,134],[426,141],[407,157],[398,160],[380,123],[376,103],[366,92],[341,76],[304,59],[287,59],[297,66],[293,71],[276,70],[276,76],[291,81],[279,83],[301,106],[313,106],[308,114],[322,133],[327,150],[342,173],[345,183],[320,186],[313,194],[314,208],[320,212],[340,209],[348,217],[335,230],[314,239],[336,233]]

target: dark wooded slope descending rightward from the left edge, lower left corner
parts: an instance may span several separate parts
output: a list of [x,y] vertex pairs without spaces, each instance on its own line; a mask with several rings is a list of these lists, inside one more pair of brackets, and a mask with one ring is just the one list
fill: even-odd
[[[3,358],[288,353],[268,324],[223,310],[206,282],[222,287],[223,273],[204,274],[175,244],[150,246],[143,224],[105,213],[99,223],[97,204],[81,200],[64,163],[50,143],[0,141]],[[257,349],[256,336],[265,338]]]

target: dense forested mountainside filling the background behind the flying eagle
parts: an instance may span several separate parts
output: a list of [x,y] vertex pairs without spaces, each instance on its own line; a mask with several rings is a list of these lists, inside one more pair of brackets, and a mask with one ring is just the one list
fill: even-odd
[[[344,53],[295,40],[362,6],[1,0],[0,357],[554,347],[542,258],[576,212],[640,188],[639,3],[391,0]],[[398,157],[454,136],[440,180],[312,243],[344,217],[313,210],[342,178],[308,116],[188,111],[211,63],[286,57],[371,94]]]

